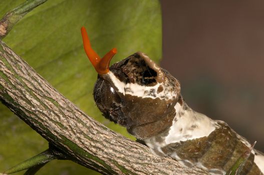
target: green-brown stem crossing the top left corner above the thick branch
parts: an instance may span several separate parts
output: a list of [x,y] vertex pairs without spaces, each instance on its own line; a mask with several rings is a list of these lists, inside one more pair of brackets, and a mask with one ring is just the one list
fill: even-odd
[[0,39],[3,39],[13,26],[28,12],[47,0],[26,0],[15,9],[7,12],[0,20]]

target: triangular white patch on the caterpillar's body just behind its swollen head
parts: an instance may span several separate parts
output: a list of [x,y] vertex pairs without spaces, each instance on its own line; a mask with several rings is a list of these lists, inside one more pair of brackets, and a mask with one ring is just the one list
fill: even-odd
[[165,137],[166,144],[208,136],[216,128],[216,122],[204,114],[185,110],[178,102],[174,108],[176,115]]

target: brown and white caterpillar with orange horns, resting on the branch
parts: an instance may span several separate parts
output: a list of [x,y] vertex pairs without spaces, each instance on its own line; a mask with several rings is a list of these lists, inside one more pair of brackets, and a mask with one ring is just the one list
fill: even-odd
[[[180,93],[180,82],[145,53],[137,51],[109,67],[116,48],[100,58],[84,27],[81,32],[85,52],[98,72],[96,105],[154,154],[210,174],[226,174],[251,146],[224,121],[192,110]],[[239,174],[263,175],[264,154],[252,149]]]

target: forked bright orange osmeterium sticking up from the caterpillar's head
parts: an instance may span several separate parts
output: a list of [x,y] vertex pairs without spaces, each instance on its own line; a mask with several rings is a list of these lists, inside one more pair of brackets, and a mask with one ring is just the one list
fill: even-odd
[[116,54],[117,49],[112,48],[112,50],[106,53],[104,57],[100,58],[100,56],[91,47],[91,43],[90,43],[85,27],[81,28],[81,32],[83,36],[84,50],[88,58],[92,62],[94,68],[99,74],[107,73],[109,71],[110,60]]

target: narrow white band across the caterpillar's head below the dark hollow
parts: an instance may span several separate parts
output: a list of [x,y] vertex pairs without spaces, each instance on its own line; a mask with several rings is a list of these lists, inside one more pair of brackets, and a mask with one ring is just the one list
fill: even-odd
[[[177,97],[176,91],[168,91],[166,88],[164,88],[163,83],[157,83],[154,86],[146,86],[146,85],[139,85],[137,83],[124,83],[120,81],[113,72],[109,71],[103,76],[108,76],[110,80],[113,82],[113,84],[116,86],[118,91],[120,93],[123,93],[123,95],[130,94],[133,96],[138,96],[142,98],[160,98],[160,99],[175,99]],[[157,93],[159,86],[163,87],[163,90],[159,93]],[[151,95],[151,92],[154,95]]]

